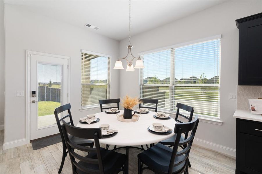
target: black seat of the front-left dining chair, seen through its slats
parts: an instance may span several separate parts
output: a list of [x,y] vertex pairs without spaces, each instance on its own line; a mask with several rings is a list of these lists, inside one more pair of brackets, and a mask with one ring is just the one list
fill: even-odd
[[[112,174],[118,172],[127,159],[127,156],[125,154],[110,151],[105,148],[101,148],[101,156],[105,174]],[[86,157],[97,159],[97,154],[90,153]],[[78,164],[85,166],[89,169],[99,170],[98,164],[90,164],[81,161]],[[84,174],[84,172],[80,171],[79,169],[76,169],[76,172],[79,174]]]

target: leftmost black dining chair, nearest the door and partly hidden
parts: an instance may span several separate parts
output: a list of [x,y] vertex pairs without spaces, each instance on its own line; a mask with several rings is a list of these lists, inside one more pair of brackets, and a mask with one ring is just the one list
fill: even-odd
[[[63,155],[62,155],[62,161],[61,161],[61,164],[60,164],[60,168],[58,170],[58,173],[61,173],[62,171],[62,168],[64,166],[64,162],[65,162],[65,157],[67,155],[67,151],[66,151],[66,144],[65,144],[65,139],[64,139],[64,136],[63,136],[63,133],[62,133],[62,129],[61,129],[61,124],[60,122],[66,118],[69,117],[69,122],[67,122],[68,124],[71,124],[72,126],[74,126],[74,123],[73,123],[73,119],[72,119],[72,114],[71,114],[71,105],[70,103],[69,104],[65,104],[63,106],[59,106],[58,108],[55,108],[55,111],[54,111],[54,115],[56,117],[56,123],[57,123],[57,126],[58,126],[58,130],[59,130],[59,133],[60,133],[60,136],[61,136],[61,139],[62,139],[62,143],[63,143]],[[68,111],[68,115],[62,117],[62,118],[59,118],[58,114],[64,112],[64,111]],[[87,140],[87,139],[83,139],[83,138],[78,138],[78,137],[74,137],[72,135],[69,136],[69,139],[76,143],[76,144],[79,144],[81,146],[90,146],[90,147],[93,147],[94,146],[94,142],[90,141],[90,140]]]

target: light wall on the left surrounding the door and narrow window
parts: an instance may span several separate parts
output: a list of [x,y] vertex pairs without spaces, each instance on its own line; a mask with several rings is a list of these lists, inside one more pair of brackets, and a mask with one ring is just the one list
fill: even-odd
[[80,112],[81,49],[112,55],[111,97],[119,97],[119,72],[113,65],[119,54],[119,41],[94,34],[87,29],[5,4],[6,98],[5,144],[26,138],[26,98],[16,97],[16,90],[26,91],[26,50],[71,57],[71,106],[74,122],[99,109]]

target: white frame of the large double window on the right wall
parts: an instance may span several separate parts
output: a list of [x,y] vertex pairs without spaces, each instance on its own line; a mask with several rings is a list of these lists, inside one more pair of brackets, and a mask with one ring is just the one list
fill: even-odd
[[[208,41],[212,41],[212,40],[216,40],[216,39],[220,39],[220,55],[219,55],[219,83],[218,84],[177,84],[175,83],[175,68],[174,68],[174,61],[175,61],[175,51],[172,49],[176,49],[176,48],[181,48],[181,47],[186,47],[189,45],[194,45],[194,44],[201,44],[204,42],[208,42]],[[163,47],[163,48],[158,48],[158,49],[154,49],[154,50],[149,50],[149,51],[145,51],[145,52],[140,52],[139,55],[143,60],[143,55],[147,55],[147,54],[152,54],[152,53],[156,53],[156,52],[160,52],[160,51],[165,51],[165,50],[171,50],[171,56],[170,56],[170,83],[169,84],[144,84],[143,81],[143,69],[139,70],[139,96],[141,97],[141,88],[142,86],[169,86],[169,100],[170,100],[170,109],[164,109],[164,108],[159,108],[159,111],[163,111],[165,113],[170,113],[171,115],[176,115],[176,107],[174,106],[175,103],[175,99],[172,100],[171,96],[173,94],[173,89],[175,88],[175,86],[218,86],[219,90],[218,90],[218,96],[220,95],[220,75],[221,75],[221,35],[215,35],[212,37],[206,37],[206,38],[202,38],[202,39],[197,39],[194,41],[189,41],[189,42],[185,42],[185,43],[181,43],[181,44],[175,44],[175,45],[171,45],[171,46],[167,46],[167,47]],[[221,108],[221,100],[219,101],[219,106]],[[171,109],[172,108],[172,109]],[[198,114],[194,114],[197,115],[199,117],[200,120],[204,121],[204,122],[208,122],[208,123],[213,123],[213,124],[218,124],[218,125],[222,125],[222,121],[220,121],[220,111],[221,109],[219,108],[219,112],[218,112],[218,117],[214,117],[214,116],[208,116],[208,115],[198,115]],[[181,112],[183,113],[183,112]],[[194,117],[193,116],[193,117]]]

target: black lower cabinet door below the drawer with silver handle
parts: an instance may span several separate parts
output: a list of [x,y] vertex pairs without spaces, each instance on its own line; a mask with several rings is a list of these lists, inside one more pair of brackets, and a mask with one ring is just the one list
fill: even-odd
[[262,137],[239,133],[240,171],[262,174]]

